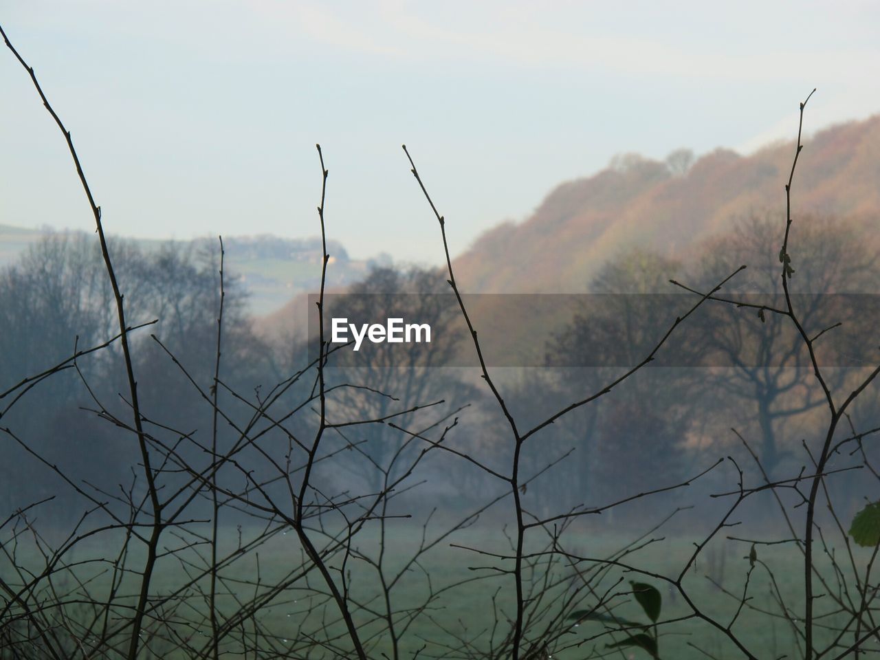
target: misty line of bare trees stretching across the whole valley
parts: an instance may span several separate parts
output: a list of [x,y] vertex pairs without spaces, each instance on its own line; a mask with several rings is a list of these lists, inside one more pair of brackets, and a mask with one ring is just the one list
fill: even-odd
[[[749,268],[718,296],[752,304],[763,301],[768,309],[781,304],[780,258],[774,253],[779,224],[769,217],[744,219],[735,231],[705,243],[687,266],[644,250],[608,260],[585,284],[595,294],[585,298],[589,309],[571,310],[561,325],[560,319],[553,319],[557,330],[540,348],[546,368],[501,370],[505,394],[517,402],[521,414],[538,419],[559,400],[591,392],[649,355],[690,304],[693,292],[688,288],[711,287],[722,273],[740,264]],[[880,290],[880,265],[864,231],[864,224],[840,219],[803,219],[790,282],[810,334],[827,329],[828,346],[848,346],[869,357],[865,347],[876,343],[876,305],[868,310],[857,298],[841,303],[834,296]],[[189,429],[198,438],[210,425],[210,407],[203,399],[212,386],[216,354],[220,246],[168,244],[144,251],[133,243],[115,242],[112,249],[120,264],[129,326],[157,321],[132,335],[143,409],[161,416],[168,427]],[[293,334],[276,333],[287,338],[269,341],[265,333],[254,332],[246,313],[246,291],[228,272],[224,290],[222,396],[229,405],[246,409],[260,401],[260,388],[303,369],[310,353],[303,334],[294,340]],[[679,295],[668,295],[671,292]],[[463,451],[473,451],[481,460],[503,462],[510,447],[495,436],[495,429],[502,427],[479,378],[473,369],[446,366],[466,341],[466,333],[460,323],[456,326],[456,309],[438,303],[454,303],[452,297],[438,296],[443,293],[448,293],[448,284],[437,271],[375,268],[363,282],[349,287],[348,294],[332,297],[331,312],[374,319],[405,314],[429,322],[436,341],[427,362],[423,354],[410,363],[401,362],[400,353],[392,359],[391,348],[373,350],[368,360],[340,351],[330,358],[328,382],[361,386],[340,386],[328,397],[363,419],[443,401],[443,410],[460,414],[466,429],[466,435],[451,444],[460,442]],[[401,301],[406,301],[405,312],[395,311]],[[530,314],[520,312],[524,318]],[[84,234],[49,234],[33,246],[0,275],[0,319],[4,389],[77,349],[113,337],[114,301],[96,241]],[[838,322],[840,326],[828,329]],[[721,449],[751,460],[737,434],[748,439],[768,476],[780,473],[783,465],[803,462],[799,444],[810,438],[810,420],[825,403],[811,381],[809,356],[794,334],[783,332],[777,315],[754,307],[705,307],[679,331],[677,341],[670,342],[665,354],[674,353],[672,366],[642,370],[601,407],[576,411],[547,429],[541,443],[532,444],[523,460],[535,469],[546,460],[542,443],[556,452],[574,450],[554,470],[554,480],[544,485],[538,481],[533,487],[541,507],[584,499],[599,503],[644,484],[683,479],[707,451],[715,454]],[[664,354],[656,357],[663,363]],[[846,355],[822,357],[831,366],[840,365],[830,370],[836,389],[845,389],[859,373]],[[583,363],[592,366],[569,366]],[[55,378],[34,383],[4,422],[14,422],[35,451],[58,457],[84,479],[115,482],[130,466],[132,445],[119,429],[102,422],[94,400],[110,401],[117,414],[124,413],[128,402],[119,393],[124,392],[123,372],[118,347],[83,356]],[[394,392],[395,398],[380,392]],[[301,393],[290,392],[291,401]],[[880,422],[876,411],[877,398],[869,392],[854,409],[857,425],[873,428]],[[406,425],[418,419],[418,414],[408,414],[397,422]],[[328,478],[380,488],[381,472],[365,476],[361,462],[385,465],[402,451],[407,436],[389,424],[373,424],[357,429],[356,438],[336,440],[353,444],[354,450],[334,461],[334,474]],[[278,442],[285,442],[282,436]],[[409,446],[406,451],[416,450]],[[44,466],[22,448],[6,443],[3,452],[4,502],[9,506],[15,505],[14,493],[22,495],[22,483],[39,492],[51,490]],[[428,488],[429,492],[462,502],[486,495],[481,475],[466,467],[442,476],[433,480],[434,491]],[[858,480],[847,483],[854,495],[861,488]]]

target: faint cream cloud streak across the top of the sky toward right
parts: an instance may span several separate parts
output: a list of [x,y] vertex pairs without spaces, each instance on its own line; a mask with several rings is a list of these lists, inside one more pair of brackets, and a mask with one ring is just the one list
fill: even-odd
[[[268,1],[254,6],[326,46],[420,62],[494,62],[514,68],[756,82],[806,71],[818,78],[863,77],[880,67],[876,47],[839,47],[809,38],[782,40],[770,49],[747,39],[715,43],[692,35],[684,40],[671,29],[672,19],[665,26],[669,29],[657,26],[651,35],[632,36],[627,12],[597,5],[558,3],[536,11],[531,5],[487,3],[468,4],[464,11],[465,5],[453,4],[446,17],[429,4],[390,0],[334,4],[330,9],[326,4]],[[591,20],[592,15],[598,19]],[[609,22],[620,33],[610,32]]]

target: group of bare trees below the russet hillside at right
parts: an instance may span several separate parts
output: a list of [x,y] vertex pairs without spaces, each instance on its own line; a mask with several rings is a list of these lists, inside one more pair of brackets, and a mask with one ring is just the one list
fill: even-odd
[[[531,370],[514,386],[519,409],[531,407],[536,419],[557,401],[595,392],[641,363],[697,291],[711,291],[741,265],[748,268],[715,297],[744,304],[702,306],[649,368],[601,405],[584,407],[546,429],[544,442],[571,444],[576,451],[536,498],[556,506],[584,499],[591,505],[612,502],[686,479],[720,452],[744,466],[759,461],[769,479],[804,466],[809,459],[803,443],[820,440],[824,429],[818,420],[827,402],[801,337],[771,312],[785,308],[779,241],[784,226],[779,216],[751,216],[702,243],[687,263],[634,250],[599,269],[589,283],[595,296],[583,297],[589,306],[573,310],[546,342],[546,362],[554,367]],[[880,354],[880,262],[872,240],[868,224],[840,218],[803,217],[796,227],[789,290],[805,331],[818,337],[814,351],[835,395],[849,393]],[[676,293],[681,295],[670,295]],[[565,366],[584,363],[595,366]],[[854,428],[876,428],[876,390],[862,392],[850,414]],[[542,449],[533,452],[535,466],[542,458]],[[847,516],[862,506],[872,488],[869,479],[855,473],[835,483],[848,488],[841,500],[850,502]],[[693,501],[693,494],[678,495],[682,505]],[[654,515],[637,509],[630,513],[645,521]],[[767,514],[758,510],[755,517]]]

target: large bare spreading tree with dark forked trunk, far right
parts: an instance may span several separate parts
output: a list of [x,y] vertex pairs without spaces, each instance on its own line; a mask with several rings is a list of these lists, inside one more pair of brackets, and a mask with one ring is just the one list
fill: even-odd
[[[753,216],[740,222],[733,231],[703,247],[705,256],[690,281],[698,282],[696,288],[704,290],[725,268],[746,264],[744,277],[718,295],[752,303],[784,304],[781,228],[784,220],[772,217]],[[852,341],[867,339],[865,331],[869,328],[862,324],[861,311],[835,304],[828,294],[874,292],[880,287],[880,268],[876,252],[869,246],[870,238],[857,225],[828,217],[801,218],[793,234],[796,249],[789,256],[795,273],[790,290],[796,295],[794,304],[805,329],[813,336],[840,321],[842,327],[829,332],[848,333]],[[770,295],[750,298],[745,294]],[[788,455],[786,444],[799,434],[796,420],[806,419],[803,415],[825,406],[825,397],[812,378],[809,356],[786,319],[775,314],[759,315],[753,308],[722,304],[708,307],[707,312],[708,317],[695,319],[688,336],[699,337],[715,355],[713,362],[728,367],[714,371],[715,385],[726,392],[736,409],[740,430],[752,433],[752,423],[757,426],[750,437],[757,440],[766,472],[773,474]],[[700,319],[711,322],[700,325]],[[825,343],[833,338],[827,335]],[[820,341],[818,349],[824,348]],[[829,357],[827,353],[823,356]],[[844,369],[829,370],[831,385],[845,385],[847,375]],[[788,436],[783,436],[784,429],[788,429]]]

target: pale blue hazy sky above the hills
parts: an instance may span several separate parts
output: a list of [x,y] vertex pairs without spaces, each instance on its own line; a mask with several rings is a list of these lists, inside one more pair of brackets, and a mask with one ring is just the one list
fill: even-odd
[[[880,111],[880,3],[0,0],[108,231],[313,235],[437,262],[616,153],[747,152]],[[60,133],[0,51],[0,223],[92,228]]]

